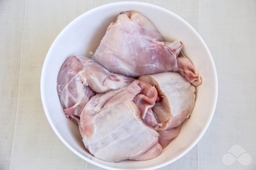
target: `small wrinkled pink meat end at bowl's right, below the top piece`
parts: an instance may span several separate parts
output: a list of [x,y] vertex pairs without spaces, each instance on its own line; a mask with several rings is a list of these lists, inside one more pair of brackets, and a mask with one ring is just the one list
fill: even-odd
[[179,74],[194,86],[201,85],[201,75],[198,73],[192,62],[182,52],[179,54],[177,61]]

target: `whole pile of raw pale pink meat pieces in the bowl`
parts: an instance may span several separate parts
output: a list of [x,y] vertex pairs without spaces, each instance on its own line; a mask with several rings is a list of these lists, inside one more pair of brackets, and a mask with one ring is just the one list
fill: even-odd
[[[179,40],[163,41],[148,18],[128,11],[109,25],[94,60],[72,56],[64,62],[57,79],[60,102],[65,116],[78,122],[90,153],[110,162],[148,160],[179,134],[195,100],[195,88],[188,82],[194,86],[202,83],[181,49]],[[168,71],[179,72],[188,82],[180,75],[162,73]],[[149,81],[131,78],[141,75],[147,75]],[[172,78],[166,80],[163,75]],[[152,84],[152,79],[157,83]]]

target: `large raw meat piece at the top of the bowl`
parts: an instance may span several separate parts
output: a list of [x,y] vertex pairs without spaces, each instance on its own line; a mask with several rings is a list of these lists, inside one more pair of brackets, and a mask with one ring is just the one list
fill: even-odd
[[178,71],[179,40],[164,42],[148,18],[136,11],[122,12],[107,28],[92,58],[107,70],[139,77]]

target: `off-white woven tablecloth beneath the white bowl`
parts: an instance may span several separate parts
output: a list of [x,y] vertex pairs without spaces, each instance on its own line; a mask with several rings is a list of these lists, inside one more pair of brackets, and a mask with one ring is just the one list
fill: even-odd
[[[101,169],[57,138],[43,112],[39,83],[47,50],[64,26],[116,1],[0,1],[0,170]],[[256,1],[141,1],[188,21],[205,40],[218,71],[218,104],[209,129],[189,153],[161,170],[255,170]]]

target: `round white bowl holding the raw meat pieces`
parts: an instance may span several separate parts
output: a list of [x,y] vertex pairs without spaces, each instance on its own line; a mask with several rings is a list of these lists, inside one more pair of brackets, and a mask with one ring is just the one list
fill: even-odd
[[[64,60],[70,55],[88,56],[94,51],[120,12],[136,10],[148,17],[166,41],[179,39],[183,52],[192,60],[202,75],[203,83],[196,88],[196,103],[191,117],[184,122],[176,137],[162,153],[149,161],[105,162],[86,152],[77,124],[64,116],[56,90],[57,75]],[[166,166],[187,153],[205,133],[213,117],[217,102],[218,83],[213,58],[200,35],[186,21],[174,13],[152,4],[119,2],[103,5],[85,12],[72,21],[58,35],[47,53],[41,75],[43,108],[52,129],[73,153],[102,168],[156,169]]]

